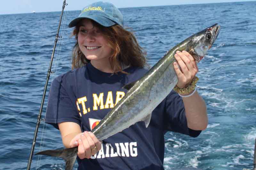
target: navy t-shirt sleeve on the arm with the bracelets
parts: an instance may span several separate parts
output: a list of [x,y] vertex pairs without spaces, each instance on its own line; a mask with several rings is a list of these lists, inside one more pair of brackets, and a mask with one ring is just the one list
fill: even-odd
[[188,128],[185,107],[178,93],[172,91],[165,99],[165,130],[197,137],[201,130]]

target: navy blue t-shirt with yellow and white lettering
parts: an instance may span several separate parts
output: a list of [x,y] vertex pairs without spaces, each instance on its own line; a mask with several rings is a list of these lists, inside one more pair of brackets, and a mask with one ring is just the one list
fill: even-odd
[[[129,74],[102,72],[88,63],[56,77],[51,85],[45,122],[75,122],[90,131],[127,92],[124,85],[140,79],[148,70],[129,67]],[[164,134],[167,131],[197,137],[200,130],[187,126],[182,98],[172,91],[152,112],[148,128],[137,122],[103,140],[90,159],[79,159],[78,169],[164,169]]]

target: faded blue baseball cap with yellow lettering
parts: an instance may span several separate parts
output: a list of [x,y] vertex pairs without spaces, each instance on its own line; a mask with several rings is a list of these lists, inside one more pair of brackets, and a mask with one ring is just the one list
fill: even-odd
[[102,26],[123,26],[124,17],[113,4],[107,2],[96,2],[83,8],[80,15],[73,19],[68,27],[74,27],[81,19],[89,18]]

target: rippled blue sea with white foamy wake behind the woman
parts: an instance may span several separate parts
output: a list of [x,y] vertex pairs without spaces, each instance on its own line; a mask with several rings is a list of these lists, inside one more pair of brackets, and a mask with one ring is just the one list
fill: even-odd
[[[72,2],[70,2],[72,3]],[[61,9],[62,3],[60,3]],[[193,33],[219,23],[220,34],[198,64],[198,92],[209,125],[199,137],[165,135],[164,168],[252,169],[256,138],[256,1],[121,8],[153,66]],[[64,11],[43,109],[52,79],[71,70],[75,43]],[[0,15],[0,169],[26,169],[59,12]],[[129,50],[129,49],[127,49]],[[41,122],[35,152],[62,148],[58,130]],[[65,169],[62,159],[33,156],[31,169]],[[77,164],[75,165],[75,168]]]

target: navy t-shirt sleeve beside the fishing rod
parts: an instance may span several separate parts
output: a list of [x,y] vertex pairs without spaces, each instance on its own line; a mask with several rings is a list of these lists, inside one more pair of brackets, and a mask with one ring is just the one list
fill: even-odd
[[64,75],[55,78],[49,92],[45,122],[57,129],[60,122],[75,122],[81,125],[76,109],[76,97],[68,82],[65,81]]

